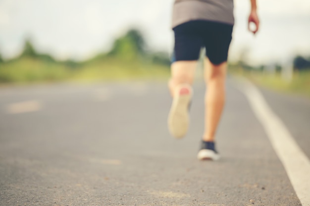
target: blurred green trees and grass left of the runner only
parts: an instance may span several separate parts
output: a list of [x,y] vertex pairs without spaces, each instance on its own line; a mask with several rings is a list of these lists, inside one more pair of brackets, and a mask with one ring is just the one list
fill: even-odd
[[0,85],[163,79],[169,74],[169,64],[168,54],[148,51],[143,36],[134,29],[116,39],[110,51],[85,61],[55,60],[38,53],[27,40],[19,56],[6,61],[0,56]]

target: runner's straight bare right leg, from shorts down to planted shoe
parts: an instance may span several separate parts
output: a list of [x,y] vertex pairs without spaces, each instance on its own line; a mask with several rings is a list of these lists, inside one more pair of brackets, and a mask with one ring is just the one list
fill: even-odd
[[218,65],[205,60],[205,132],[204,141],[214,142],[215,132],[225,104],[225,78],[227,62]]

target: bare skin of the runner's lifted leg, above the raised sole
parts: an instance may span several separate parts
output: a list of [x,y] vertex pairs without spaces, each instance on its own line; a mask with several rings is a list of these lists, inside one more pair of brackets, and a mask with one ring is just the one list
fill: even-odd
[[174,89],[180,84],[193,84],[197,61],[176,61],[171,65],[168,86],[173,97]]

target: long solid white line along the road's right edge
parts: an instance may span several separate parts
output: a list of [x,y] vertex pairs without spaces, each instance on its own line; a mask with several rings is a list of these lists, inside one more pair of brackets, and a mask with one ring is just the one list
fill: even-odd
[[242,92],[248,98],[258,120],[282,161],[296,195],[303,206],[310,206],[310,161],[288,129],[265,102],[259,90],[248,80],[242,80]]

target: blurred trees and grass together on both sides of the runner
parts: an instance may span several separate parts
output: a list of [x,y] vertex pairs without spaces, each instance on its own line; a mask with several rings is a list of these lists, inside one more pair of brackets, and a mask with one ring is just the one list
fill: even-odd
[[[37,52],[26,40],[20,55],[9,60],[0,56],[0,85],[166,80],[169,66],[168,54],[148,50],[143,35],[136,29],[116,39],[110,51],[85,61],[56,60],[50,54]],[[279,64],[253,67],[242,60],[229,64],[231,74],[245,76],[262,87],[310,97],[310,57],[296,56],[291,70],[286,70]]]

